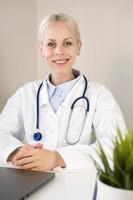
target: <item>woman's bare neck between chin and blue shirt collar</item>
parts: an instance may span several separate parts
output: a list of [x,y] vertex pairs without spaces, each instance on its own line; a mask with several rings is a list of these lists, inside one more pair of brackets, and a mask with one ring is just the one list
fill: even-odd
[[53,85],[60,85],[62,83],[71,81],[75,78],[75,76],[73,75],[73,72],[67,72],[66,74],[57,74],[52,72],[51,73],[51,83]]

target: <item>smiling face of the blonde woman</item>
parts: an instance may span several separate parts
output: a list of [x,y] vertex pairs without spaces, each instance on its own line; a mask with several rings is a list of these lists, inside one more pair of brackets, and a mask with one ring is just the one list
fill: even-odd
[[74,31],[65,22],[49,24],[40,44],[42,56],[51,71],[59,74],[72,71],[80,47]]

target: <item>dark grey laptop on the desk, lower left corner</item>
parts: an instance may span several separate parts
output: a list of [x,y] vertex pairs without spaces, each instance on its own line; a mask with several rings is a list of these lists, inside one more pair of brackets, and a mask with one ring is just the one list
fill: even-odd
[[52,172],[0,167],[0,200],[23,200],[54,176]]

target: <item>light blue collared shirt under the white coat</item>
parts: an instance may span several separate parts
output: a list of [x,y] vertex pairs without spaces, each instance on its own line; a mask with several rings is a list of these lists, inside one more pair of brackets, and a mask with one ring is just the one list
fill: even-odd
[[78,76],[77,78],[71,81],[55,86],[50,82],[49,76],[48,76],[48,78],[46,79],[48,96],[49,96],[50,104],[55,113],[57,112],[62,102],[65,100],[66,96],[68,95],[72,87],[76,84],[76,82],[79,79],[80,79],[80,76]]

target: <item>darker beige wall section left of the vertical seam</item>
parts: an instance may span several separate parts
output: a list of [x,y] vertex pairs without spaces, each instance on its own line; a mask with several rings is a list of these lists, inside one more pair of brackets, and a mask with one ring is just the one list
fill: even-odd
[[0,111],[36,78],[36,0],[0,0]]

